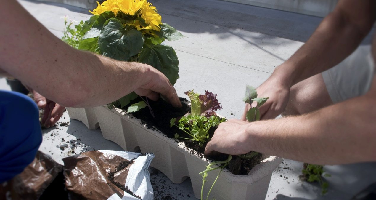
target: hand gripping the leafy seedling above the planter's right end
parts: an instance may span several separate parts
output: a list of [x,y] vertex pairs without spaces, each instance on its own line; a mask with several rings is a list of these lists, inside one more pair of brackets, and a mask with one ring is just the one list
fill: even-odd
[[[258,97],[269,98],[259,108],[261,119],[274,119],[285,111],[290,98],[290,86],[279,77],[274,74],[271,75],[256,91]],[[252,107],[256,107],[256,102],[252,103]],[[241,120],[246,121],[246,114],[249,108],[250,104],[246,103]]]

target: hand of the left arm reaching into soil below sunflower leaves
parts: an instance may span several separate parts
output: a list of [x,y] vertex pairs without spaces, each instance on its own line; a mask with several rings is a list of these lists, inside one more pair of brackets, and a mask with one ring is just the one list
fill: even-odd
[[158,100],[158,93],[160,93],[173,107],[182,107],[176,90],[167,77],[152,66],[146,64],[143,66],[146,69],[143,74],[144,84],[137,88],[135,93],[139,96],[146,96],[153,101]]

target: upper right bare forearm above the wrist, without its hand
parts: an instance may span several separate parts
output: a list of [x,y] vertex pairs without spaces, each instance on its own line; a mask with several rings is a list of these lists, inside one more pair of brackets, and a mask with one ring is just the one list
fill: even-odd
[[274,72],[291,86],[340,63],[370,31],[374,7],[368,0],[338,2],[309,40]]

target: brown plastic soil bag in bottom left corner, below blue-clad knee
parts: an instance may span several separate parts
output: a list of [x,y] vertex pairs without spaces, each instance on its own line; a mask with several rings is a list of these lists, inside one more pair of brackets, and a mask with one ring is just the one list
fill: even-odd
[[63,166],[41,151],[21,174],[0,183],[0,199],[36,200],[62,171]]

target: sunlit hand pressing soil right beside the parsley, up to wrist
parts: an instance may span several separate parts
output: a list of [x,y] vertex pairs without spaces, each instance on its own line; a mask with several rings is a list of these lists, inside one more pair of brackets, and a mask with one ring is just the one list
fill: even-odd
[[249,122],[230,119],[219,124],[214,136],[205,148],[205,154],[220,152],[230,155],[240,155],[251,151],[250,137],[247,134]]

